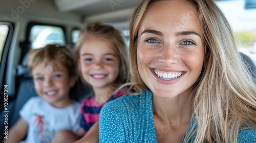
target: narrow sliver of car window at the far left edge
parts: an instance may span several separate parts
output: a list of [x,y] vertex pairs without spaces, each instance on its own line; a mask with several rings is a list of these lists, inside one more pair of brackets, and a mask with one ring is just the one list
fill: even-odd
[[1,63],[2,54],[3,54],[8,31],[9,31],[9,27],[7,25],[0,24],[0,63]]

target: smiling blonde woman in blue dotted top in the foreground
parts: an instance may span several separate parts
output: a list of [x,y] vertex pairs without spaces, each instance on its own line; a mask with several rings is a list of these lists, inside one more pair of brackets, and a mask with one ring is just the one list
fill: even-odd
[[145,0],[130,21],[130,94],[100,113],[100,142],[253,142],[256,88],[211,0]]

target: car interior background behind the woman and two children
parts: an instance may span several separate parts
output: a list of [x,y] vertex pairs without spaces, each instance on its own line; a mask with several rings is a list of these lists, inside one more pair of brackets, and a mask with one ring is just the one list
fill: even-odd
[[[28,52],[46,44],[68,45],[74,49],[79,30],[92,22],[103,22],[117,28],[129,48],[129,16],[142,0],[9,0],[0,2],[0,142],[4,138],[8,113],[8,129],[19,118],[19,110],[31,97],[37,96],[33,79],[27,68]],[[246,0],[216,1],[219,7],[241,9],[248,15],[247,28],[238,25],[236,35],[249,35],[249,41],[240,42],[241,55],[256,84],[256,7]],[[232,5],[230,5],[232,4]],[[242,5],[241,5],[242,4]],[[227,12],[228,13],[228,12]],[[252,16],[254,15],[254,16]],[[251,18],[252,17],[252,18]],[[230,18],[236,19],[232,16]],[[236,19],[237,20],[237,19]],[[239,23],[231,20],[233,23]],[[241,26],[241,29],[240,29]],[[244,32],[241,34],[241,32]],[[245,37],[246,37],[245,36]],[[4,90],[8,90],[6,93]],[[79,79],[70,91],[74,100],[81,101],[92,94],[89,85]],[[6,93],[6,94],[5,94]],[[4,96],[7,95],[7,96]],[[7,106],[4,106],[4,103]],[[8,111],[8,112],[6,112]]]

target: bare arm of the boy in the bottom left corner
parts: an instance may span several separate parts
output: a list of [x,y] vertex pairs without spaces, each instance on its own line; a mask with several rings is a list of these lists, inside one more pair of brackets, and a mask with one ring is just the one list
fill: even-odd
[[27,135],[28,128],[29,124],[22,117],[20,117],[15,125],[11,128],[8,139],[4,138],[3,142],[18,143]]

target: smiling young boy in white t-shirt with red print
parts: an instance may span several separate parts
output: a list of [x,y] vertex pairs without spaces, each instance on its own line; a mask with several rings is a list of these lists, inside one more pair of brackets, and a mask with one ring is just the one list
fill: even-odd
[[[5,142],[51,142],[59,130],[77,133],[79,103],[69,96],[75,84],[75,63],[67,47],[47,45],[31,50],[28,67],[38,97],[32,97],[20,110],[20,118]],[[65,139],[59,138],[59,142]]]

